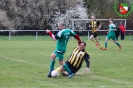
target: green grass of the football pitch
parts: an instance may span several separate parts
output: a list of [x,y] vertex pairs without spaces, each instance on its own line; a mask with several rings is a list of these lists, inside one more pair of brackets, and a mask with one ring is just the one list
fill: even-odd
[[[44,38],[44,39],[43,39]],[[55,41],[48,36],[0,36],[0,88],[133,88],[133,37],[127,36],[118,42],[122,50],[110,40],[108,50],[101,51],[94,43],[87,41],[86,50],[91,57],[91,70],[85,71],[85,63],[80,75],[71,79],[59,75],[47,78],[50,55],[55,49]],[[105,36],[99,36],[104,44]],[[69,41],[64,60],[67,60],[77,41]],[[59,66],[56,60],[55,67]]]

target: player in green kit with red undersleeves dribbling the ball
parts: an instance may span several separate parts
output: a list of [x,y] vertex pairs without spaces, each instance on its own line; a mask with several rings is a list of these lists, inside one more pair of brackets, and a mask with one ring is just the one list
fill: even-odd
[[59,63],[63,68],[69,73],[69,78],[73,76],[73,73],[68,68],[67,64],[63,61],[64,53],[66,52],[67,43],[70,36],[73,36],[78,40],[78,43],[81,43],[79,36],[73,32],[72,30],[65,28],[65,24],[63,22],[58,23],[58,28],[60,31],[57,35],[54,35],[50,30],[46,30],[46,32],[52,37],[53,40],[57,40],[56,49],[51,55],[51,63],[50,63],[50,72],[48,77],[51,77],[51,72],[54,70],[55,58],[59,60]]

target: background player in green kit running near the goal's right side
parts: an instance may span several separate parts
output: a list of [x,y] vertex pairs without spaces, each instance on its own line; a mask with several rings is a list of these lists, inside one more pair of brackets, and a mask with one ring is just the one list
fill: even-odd
[[116,42],[116,35],[115,35],[116,26],[113,23],[113,19],[112,18],[110,18],[109,23],[110,23],[109,31],[108,31],[108,35],[106,36],[105,43],[104,43],[104,47],[105,48],[102,48],[102,50],[107,50],[107,41],[109,39],[112,39],[114,41],[114,43],[117,46],[119,46],[119,49],[121,49],[121,45],[118,42]]

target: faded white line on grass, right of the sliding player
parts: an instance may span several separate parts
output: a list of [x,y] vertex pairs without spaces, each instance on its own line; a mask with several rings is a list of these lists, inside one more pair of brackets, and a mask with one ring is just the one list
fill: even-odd
[[[84,70],[81,70],[80,72],[77,72],[77,75],[82,75],[82,74],[86,74],[86,73],[93,73],[93,72],[92,71],[87,72],[84,69]],[[119,84],[126,84],[129,87],[133,87],[133,83],[122,81],[122,80],[118,80],[118,79],[114,79],[114,78],[107,78],[107,77],[102,77],[102,76],[97,76],[97,75],[93,75],[93,76],[91,76],[91,78],[107,80],[107,81],[114,82],[114,83],[119,83]]]

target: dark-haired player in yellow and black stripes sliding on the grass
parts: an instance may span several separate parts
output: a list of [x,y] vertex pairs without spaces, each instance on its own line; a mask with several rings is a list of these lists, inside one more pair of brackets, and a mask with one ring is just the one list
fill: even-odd
[[[76,73],[82,66],[82,63],[86,62],[86,70],[89,71],[90,66],[90,56],[87,51],[85,51],[86,43],[81,42],[81,44],[74,48],[72,54],[70,55],[69,59],[65,62],[72,73]],[[68,73],[65,71],[65,69],[60,66],[56,69],[58,72],[61,71],[61,74],[63,76],[67,76]]]

